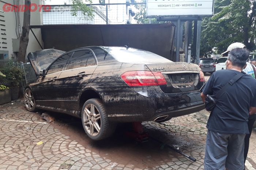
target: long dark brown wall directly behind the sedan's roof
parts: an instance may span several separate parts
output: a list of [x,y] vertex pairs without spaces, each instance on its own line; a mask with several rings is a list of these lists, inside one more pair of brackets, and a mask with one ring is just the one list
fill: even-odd
[[172,24],[41,26],[45,48],[68,51],[84,46],[124,46],[148,50],[170,59]]

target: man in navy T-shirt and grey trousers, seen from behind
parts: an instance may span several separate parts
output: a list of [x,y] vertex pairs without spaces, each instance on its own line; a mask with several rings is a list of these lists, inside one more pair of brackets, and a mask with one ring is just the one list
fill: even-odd
[[230,50],[226,70],[214,72],[203,88],[201,97],[205,101],[206,95],[215,96],[231,79],[241,76],[217,99],[208,119],[205,170],[244,170],[249,109],[256,107],[256,79],[242,72],[248,58],[244,48]]

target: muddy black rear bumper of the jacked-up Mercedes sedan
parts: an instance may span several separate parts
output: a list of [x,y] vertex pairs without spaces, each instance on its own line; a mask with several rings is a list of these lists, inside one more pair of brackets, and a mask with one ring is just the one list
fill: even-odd
[[[154,91],[157,91],[157,89],[154,89]],[[125,98],[119,98],[118,101],[106,101],[104,105],[109,121],[153,121],[159,116],[167,115],[163,120],[166,121],[173,117],[195,113],[204,109],[199,90],[172,94],[163,93],[161,90],[152,92],[153,90],[129,92],[124,94],[126,95]],[[154,97],[149,94],[153,94]],[[119,97],[124,95],[119,94]]]

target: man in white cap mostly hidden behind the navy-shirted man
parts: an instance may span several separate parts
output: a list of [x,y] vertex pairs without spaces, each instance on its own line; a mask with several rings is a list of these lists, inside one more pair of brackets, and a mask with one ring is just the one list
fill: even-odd
[[[244,44],[240,43],[240,42],[235,42],[227,48],[226,52],[222,53],[223,57],[227,56],[228,53],[232,49],[236,49],[236,48],[246,49],[246,46]],[[255,61],[254,61],[254,63],[256,63]],[[251,63],[248,63],[248,62],[246,64],[247,65],[246,65],[246,67],[243,71],[246,74],[251,75],[253,78],[255,78],[255,71],[256,71],[255,70],[256,69],[255,65],[251,64]],[[255,120],[256,120],[256,114],[249,115],[248,122],[247,122],[248,129],[249,129],[249,134],[246,134],[245,139],[244,139],[244,163],[245,163],[246,158],[247,158],[247,154],[248,154],[248,150],[249,150],[249,141],[250,141],[250,137],[251,137],[251,134],[252,134],[252,128],[253,128],[253,124],[254,124]]]

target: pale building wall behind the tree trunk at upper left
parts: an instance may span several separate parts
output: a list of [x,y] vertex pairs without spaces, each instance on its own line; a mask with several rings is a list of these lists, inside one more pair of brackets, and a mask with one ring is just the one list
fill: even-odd
[[[9,0],[3,0],[7,3],[10,3],[11,1]],[[36,3],[36,4],[41,4],[41,0],[31,0],[31,3]],[[13,1],[12,3],[13,4]],[[15,4],[17,4],[17,0],[15,0]],[[20,0],[20,4],[24,4],[24,0]],[[3,5],[4,3],[0,1],[0,10],[3,11]],[[24,12],[19,12],[20,15],[20,29],[22,31],[22,26],[23,26],[23,13]],[[17,12],[16,12],[17,15]],[[37,9],[37,11],[35,12],[31,12],[31,19],[30,19],[30,24],[31,25],[41,25],[42,21],[42,16],[41,16],[41,12],[39,12],[39,9]],[[16,58],[16,54],[13,52],[13,46],[12,46],[12,39],[17,39],[17,35],[15,32],[15,27],[16,27],[16,20],[15,20],[15,12],[4,12],[4,23],[5,23],[5,28],[6,31],[6,46],[7,48],[4,49],[4,51],[8,51],[8,58]],[[42,38],[41,38],[41,29],[34,29],[33,30],[35,35],[37,36],[37,38],[39,39],[39,41],[42,43]],[[18,32],[18,29],[17,29]],[[0,40],[1,41],[1,40]],[[40,50],[40,46],[38,45],[36,39],[34,38],[34,35],[31,33],[29,33],[29,44],[27,47],[27,54],[29,52],[34,52],[35,50]],[[3,49],[0,49],[0,53],[3,53]],[[1,56],[1,55],[0,55]],[[1,59],[1,58],[0,58]],[[5,58],[7,59],[7,58]]]

